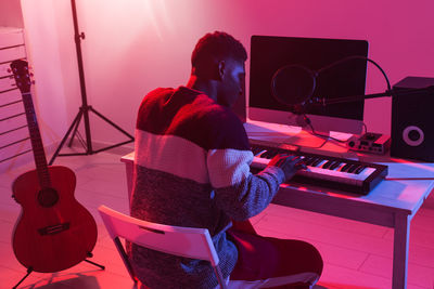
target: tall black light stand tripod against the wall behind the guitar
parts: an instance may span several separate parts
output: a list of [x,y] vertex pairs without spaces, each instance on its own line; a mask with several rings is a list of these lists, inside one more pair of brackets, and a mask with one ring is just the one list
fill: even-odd
[[[62,139],[61,144],[59,145],[58,149],[55,150],[54,155],[51,157],[51,160],[49,162],[49,165],[51,166],[54,162],[54,159],[60,156],[84,156],[84,155],[93,155],[103,150],[107,150],[124,144],[128,144],[135,141],[135,137],[132,135],[130,135],[128,132],[126,132],[125,130],[123,130],[122,128],[119,128],[116,123],[114,123],[113,121],[111,121],[108,118],[104,117],[103,115],[101,115],[100,113],[98,113],[92,106],[88,105],[88,101],[87,101],[87,94],[86,94],[86,82],[85,82],[85,71],[82,68],[82,56],[81,56],[81,39],[85,39],[85,34],[84,32],[79,32],[78,31],[78,21],[77,21],[77,9],[76,9],[76,4],[75,4],[75,0],[71,0],[71,6],[73,10],[73,19],[74,19],[74,31],[75,31],[75,47],[76,47],[76,51],[77,51],[77,63],[78,63],[78,74],[79,74],[79,79],[80,79],[80,89],[81,89],[81,107],[78,110],[77,116],[75,117],[73,123],[71,124],[69,129],[67,130],[65,136]],[[114,127],[115,129],[117,129],[118,131],[120,131],[123,134],[128,136],[128,141],[126,142],[122,142],[115,145],[111,145],[107,147],[103,147],[100,149],[94,150],[92,148],[92,137],[90,134],[90,123],[89,123],[89,110],[92,111],[93,114],[95,114],[97,116],[99,116],[101,119],[103,119],[104,121],[106,121],[108,124],[111,124],[112,127]],[[80,124],[81,118],[85,119],[85,131],[86,131],[86,142],[82,140],[82,137],[80,136],[78,130],[78,126]],[[72,134],[71,136],[71,141],[68,143],[68,147],[72,146],[74,137],[77,136],[80,144],[84,146],[84,148],[86,149],[85,153],[73,153],[73,154],[59,154],[60,150],[62,149],[63,145],[65,144],[67,137],[69,136],[69,134]]]

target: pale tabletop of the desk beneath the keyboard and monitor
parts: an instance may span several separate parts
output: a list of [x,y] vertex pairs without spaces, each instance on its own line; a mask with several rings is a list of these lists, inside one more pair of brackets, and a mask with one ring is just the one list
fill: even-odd
[[[337,197],[342,205],[346,205],[348,202],[354,203],[356,201],[360,202],[360,205],[365,203],[366,206],[371,207],[379,206],[382,207],[381,209],[383,210],[398,210],[410,215],[418,211],[424,199],[434,188],[434,180],[404,180],[409,178],[434,179],[434,163],[431,162],[412,162],[409,160],[393,159],[388,156],[375,156],[350,152],[342,143],[329,141],[323,144],[322,139],[308,135],[307,132],[301,131],[299,128],[289,126],[250,121],[245,123],[245,129],[251,140],[271,143],[284,143],[290,141],[291,144],[296,144],[294,148],[296,148],[297,144],[299,143],[297,137],[307,137],[308,141],[306,141],[306,139],[304,140],[305,146],[299,147],[301,152],[383,163],[388,166],[387,179],[394,179],[391,181],[382,181],[366,196],[353,195],[343,192],[331,191],[329,188],[312,186],[302,187],[283,185],[283,187],[286,188],[294,187],[301,192],[308,192],[312,195],[319,195],[318,197],[323,199],[327,199],[328,197]],[[334,136],[337,136],[342,140],[349,137],[348,134],[336,134]],[[318,146],[321,144],[323,145],[318,148]],[[280,197],[281,196],[277,196],[277,199]],[[277,200],[277,202],[279,201]]]

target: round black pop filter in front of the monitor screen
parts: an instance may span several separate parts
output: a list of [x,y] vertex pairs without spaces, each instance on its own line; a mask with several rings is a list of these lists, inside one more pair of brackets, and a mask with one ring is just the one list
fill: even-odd
[[275,73],[271,94],[281,104],[303,113],[304,106],[314,94],[317,74],[302,65],[286,65]]

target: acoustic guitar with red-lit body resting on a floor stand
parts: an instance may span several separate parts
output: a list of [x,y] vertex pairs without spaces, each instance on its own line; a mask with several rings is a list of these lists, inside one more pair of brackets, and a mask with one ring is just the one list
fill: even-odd
[[11,68],[22,93],[36,170],[20,175],[12,185],[22,206],[13,232],[13,251],[30,271],[53,273],[72,267],[90,255],[97,242],[93,216],[74,197],[75,173],[48,166],[30,94],[25,61]]

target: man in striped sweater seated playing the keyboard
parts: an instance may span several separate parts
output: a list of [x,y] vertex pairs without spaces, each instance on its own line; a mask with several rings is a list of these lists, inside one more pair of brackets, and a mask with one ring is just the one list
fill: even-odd
[[[207,34],[192,53],[187,86],[156,89],[143,98],[137,119],[131,215],[207,228],[224,277],[245,283],[241,288],[253,288],[246,281],[308,288],[322,271],[312,246],[260,237],[248,222],[240,222],[263,211],[279,185],[303,167],[299,158],[279,155],[258,174],[250,172],[248,140],[230,109],[243,91],[246,58],[243,45],[230,35]],[[131,244],[128,254],[149,288],[218,286],[206,261]]]

